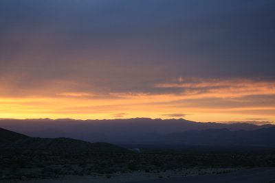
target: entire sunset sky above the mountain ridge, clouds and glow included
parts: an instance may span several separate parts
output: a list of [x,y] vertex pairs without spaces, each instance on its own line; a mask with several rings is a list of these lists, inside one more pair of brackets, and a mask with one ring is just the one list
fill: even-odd
[[1,0],[0,118],[275,121],[275,1]]

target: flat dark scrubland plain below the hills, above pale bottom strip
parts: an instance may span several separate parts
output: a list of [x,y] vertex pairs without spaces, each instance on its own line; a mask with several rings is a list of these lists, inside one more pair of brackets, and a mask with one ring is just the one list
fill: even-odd
[[223,167],[275,167],[275,151],[144,151],[54,154],[32,150],[1,150],[2,178],[53,178],[60,175]]

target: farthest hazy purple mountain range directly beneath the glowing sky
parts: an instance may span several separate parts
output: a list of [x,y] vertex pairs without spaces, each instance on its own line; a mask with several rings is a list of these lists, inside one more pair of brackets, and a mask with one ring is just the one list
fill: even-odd
[[185,119],[112,119],[112,120],[74,120],[74,119],[2,119],[0,126],[5,129],[39,136],[43,138],[67,137],[83,141],[108,143],[144,142],[157,135],[187,132],[190,130],[228,129],[257,130],[272,125],[250,123],[199,123]]

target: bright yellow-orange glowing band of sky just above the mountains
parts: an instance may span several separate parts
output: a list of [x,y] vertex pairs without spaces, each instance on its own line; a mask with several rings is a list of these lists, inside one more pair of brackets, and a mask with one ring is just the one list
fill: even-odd
[[[182,82],[182,81],[181,81]],[[0,118],[14,119],[152,119],[180,118],[191,121],[275,121],[275,103],[262,97],[275,95],[272,82],[249,80],[203,81],[197,84],[158,84],[156,87],[187,88],[182,93],[54,93],[52,97],[1,97]],[[212,88],[214,87],[214,88]],[[203,92],[201,92],[201,88]],[[50,90],[50,88],[48,88]],[[52,90],[55,90],[53,88]]]

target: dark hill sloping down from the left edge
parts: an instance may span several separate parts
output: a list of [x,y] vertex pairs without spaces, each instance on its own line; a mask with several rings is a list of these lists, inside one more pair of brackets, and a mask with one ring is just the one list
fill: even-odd
[[34,138],[0,128],[0,148],[45,151],[58,154],[85,154],[94,152],[124,152],[122,147],[109,143],[88,143],[72,138]]

